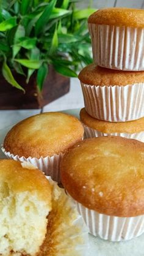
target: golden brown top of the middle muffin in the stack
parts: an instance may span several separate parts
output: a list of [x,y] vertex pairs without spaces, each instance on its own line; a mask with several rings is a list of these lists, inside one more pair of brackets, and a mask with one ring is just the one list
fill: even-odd
[[113,70],[90,64],[81,70],[78,78],[82,83],[87,85],[124,86],[134,83],[144,83],[144,71]]

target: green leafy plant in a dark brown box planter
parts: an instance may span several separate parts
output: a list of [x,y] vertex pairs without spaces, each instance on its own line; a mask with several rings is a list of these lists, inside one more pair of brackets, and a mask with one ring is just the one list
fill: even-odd
[[[0,2],[0,108],[40,108],[90,64],[87,17],[75,0]],[[60,75],[59,75],[60,74]]]

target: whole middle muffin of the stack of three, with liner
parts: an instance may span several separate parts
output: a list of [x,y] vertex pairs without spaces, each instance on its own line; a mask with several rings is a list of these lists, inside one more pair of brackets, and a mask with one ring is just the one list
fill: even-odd
[[131,121],[144,116],[144,72],[90,64],[79,73],[85,110],[96,119]]

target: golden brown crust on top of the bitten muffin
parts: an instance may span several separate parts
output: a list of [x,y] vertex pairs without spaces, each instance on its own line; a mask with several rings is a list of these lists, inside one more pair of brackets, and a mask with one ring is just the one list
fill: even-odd
[[52,191],[48,179],[45,178],[42,171],[27,162],[0,160],[0,183],[1,189],[2,184],[4,184],[5,193],[10,190],[13,193],[30,192],[37,194],[40,200],[45,201],[51,207]]

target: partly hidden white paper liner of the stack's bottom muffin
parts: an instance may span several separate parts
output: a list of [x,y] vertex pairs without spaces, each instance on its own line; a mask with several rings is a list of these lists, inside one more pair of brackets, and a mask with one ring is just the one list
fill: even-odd
[[[93,128],[90,128],[83,124],[84,130],[85,130],[85,138],[95,138],[95,137],[103,137],[103,136],[120,136],[120,137],[125,137],[125,138],[133,138],[135,140],[139,140],[144,142],[144,131],[143,132],[138,132],[135,134],[128,134],[126,132],[112,132],[110,134],[106,134],[104,132],[99,132],[98,130],[95,130]],[[144,129],[144,128],[143,128]]]

